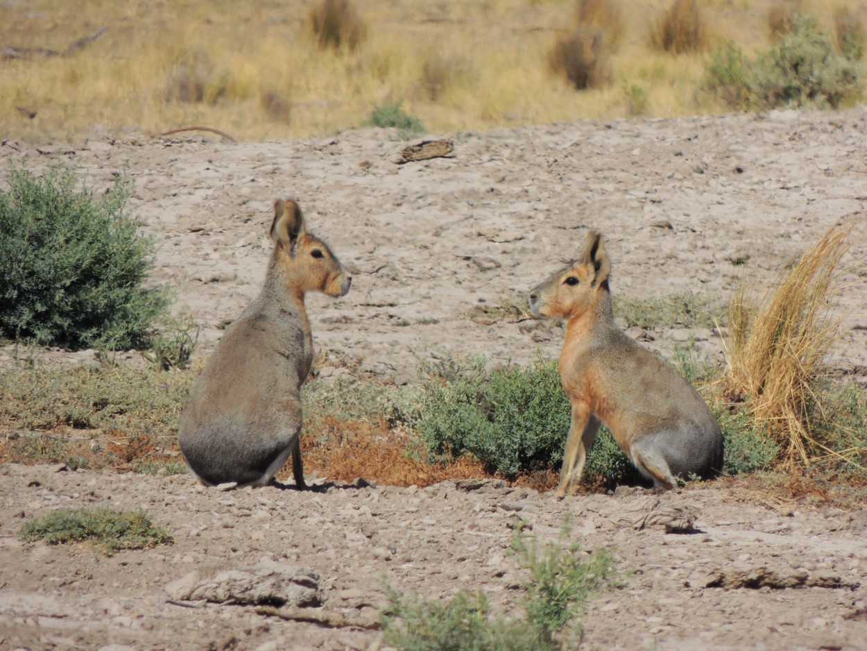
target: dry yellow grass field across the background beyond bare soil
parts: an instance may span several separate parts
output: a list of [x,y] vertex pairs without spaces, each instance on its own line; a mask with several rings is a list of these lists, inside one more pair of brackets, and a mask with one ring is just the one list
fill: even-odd
[[[658,0],[622,11],[610,82],[582,91],[551,72],[548,53],[577,16],[614,20],[600,17],[600,0],[355,0],[366,37],[336,50],[317,47],[310,16],[320,1],[0,3],[0,51],[62,50],[108,27],[69,56],[3,61],[0,133],[75,142],[204,124],[244,140],[324,135],[363,126],[372,109],[401,100],[431,132],[608,120],[629,115],[636,85],[646,115],[724,110],[701,91],[703,56],[649,49]],[[827,2],[812,13],[831,25]],[[711,47],[727,38],[747,53],[765,47],[770,3],[701,0]]]

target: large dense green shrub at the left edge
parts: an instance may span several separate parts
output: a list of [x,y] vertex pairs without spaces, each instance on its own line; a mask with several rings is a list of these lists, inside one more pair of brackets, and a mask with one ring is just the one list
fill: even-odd
[[153,238],[126,210],[123,175],[95,198],[68,168],[13,169],[0,191],[0,335],[73,349],[144,348],[166,312],[165,288],[142,284]]

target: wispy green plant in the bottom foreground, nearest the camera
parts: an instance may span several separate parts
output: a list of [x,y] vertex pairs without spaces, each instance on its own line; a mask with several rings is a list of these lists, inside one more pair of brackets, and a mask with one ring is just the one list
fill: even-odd
[[555,542],[540,546],[518,531],[515,558],[530,571],[524,583],[525,617],[492,618],[484,593],[460,591],[447,602],[388,590],[382,614],[384,639],[401,651],[554,651],[580,641],[584,604],[613,579],[605,551],[583,555],[577,543],[565,544],[567,529]]

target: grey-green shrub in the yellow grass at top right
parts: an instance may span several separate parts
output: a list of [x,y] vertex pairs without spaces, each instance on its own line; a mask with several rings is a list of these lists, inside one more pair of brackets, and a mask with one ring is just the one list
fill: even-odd
[[736,108],[837,109],[860,95],[863,74],[812,18],[795,15],[792,30],[755,61],[731,43],[720,49],[707,66],[707,85]]

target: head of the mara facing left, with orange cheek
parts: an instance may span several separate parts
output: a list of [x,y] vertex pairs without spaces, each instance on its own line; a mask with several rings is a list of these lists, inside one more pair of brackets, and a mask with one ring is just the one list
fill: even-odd
[[554,273],[530,293],[530,309],[536,316],[570,319],[590,312],[601,292],[608,292],[611,262],[605,238],[590,231],[581,255]]

